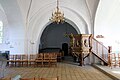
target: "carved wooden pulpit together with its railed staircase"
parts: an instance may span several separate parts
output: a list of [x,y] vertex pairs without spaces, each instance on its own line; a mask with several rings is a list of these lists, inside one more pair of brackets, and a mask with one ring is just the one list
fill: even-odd
[[[109,64],[108,48],[96,40],[92,35],[79,34],[77,37],[76,35],[69,35],[69,38],[71,41],[72,55],[80,59],[80,66],[84,64],[84,59],[90,56],[90,54],[93,54],[99,58],[99,60],[102,61],[104,65]],[[75,42],[79,42],[77,43],[77,46],[74,46],[76,43],[72,43],[73,40],[75,40]]]

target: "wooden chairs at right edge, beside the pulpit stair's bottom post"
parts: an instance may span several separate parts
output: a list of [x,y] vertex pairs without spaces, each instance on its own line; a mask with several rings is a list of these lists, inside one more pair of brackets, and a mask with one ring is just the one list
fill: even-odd
[[112,68],[113,66],[119,66],[120,67],[120,53],[111,53],[110,55],[110,67]]

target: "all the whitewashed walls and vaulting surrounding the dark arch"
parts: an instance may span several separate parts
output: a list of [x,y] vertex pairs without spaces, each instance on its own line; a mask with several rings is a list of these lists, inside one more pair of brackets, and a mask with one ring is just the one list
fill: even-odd
[[[37,53],[41,34],[50,24],[55,7],[56,0],[0,0],[0,20],[5,32],[0,50]],[[78,33],[103,35],[106,46],[120,50],[120,0],[60,0],[60,9]]]

